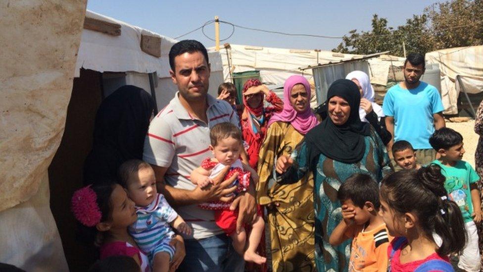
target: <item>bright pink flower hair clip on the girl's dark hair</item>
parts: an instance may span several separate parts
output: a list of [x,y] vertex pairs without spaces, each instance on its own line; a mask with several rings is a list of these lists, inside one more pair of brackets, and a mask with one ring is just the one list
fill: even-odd
[[71,210],[74,217],[88,227],[95,226],[102,218],[102,213],[97,206],[97,194],[91,185],[74,192]]

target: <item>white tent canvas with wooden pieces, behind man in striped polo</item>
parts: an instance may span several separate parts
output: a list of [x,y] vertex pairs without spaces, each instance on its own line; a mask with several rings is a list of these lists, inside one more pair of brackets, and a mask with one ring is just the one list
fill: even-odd
[[[148,74],[156,73],[158,80],[154,82],[153,86],[156,104],[158,109],[164,108],[177,92],[176,85],[172,83],[169,75],[168,54],[171,47],[178,41],[90,10],[87,10],[86,17],[121,25],[121,35],[109,36],[97,31],[84,29],[76,62],[75,76],[79,76],[81,68],[98,72],[124,72],[126,77],[118,85],[135,85],[150,92]],[[161,38],[160,57],[146,54],[141,50],[142,34]],[[221,55],[218,52],[209,51],[208,58],[211,64],[210,88],[208,92],[211,95],[216,95],[218,85],[223,83]],[[115,87],[116,84],[112,88],[104,90],[104,92],[108,95],[115,90]]]

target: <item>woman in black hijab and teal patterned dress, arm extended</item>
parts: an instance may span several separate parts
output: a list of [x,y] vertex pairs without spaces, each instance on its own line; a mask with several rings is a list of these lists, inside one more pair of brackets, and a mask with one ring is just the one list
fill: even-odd
[[312,171],[315,180],[315,263],[317,271],[347,271],[351,240],[337,247],[329,237],[342,220],[337,192],[354,173],[377,182],[392,172],[386,147],[369,123],[359,117],[361,96],[357,85],[336,80],[327,93],[328,113],[310,130],[294,153],[277,160],[278,182],[299,180]]

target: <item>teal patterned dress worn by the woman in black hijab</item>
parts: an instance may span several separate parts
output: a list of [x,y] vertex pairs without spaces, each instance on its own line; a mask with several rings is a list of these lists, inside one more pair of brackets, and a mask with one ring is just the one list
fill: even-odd
[[[337,191],[342,182],[354,173],[371,175],[376,181],[392,173],[392,166],[381,138],[371,133],[365,136],[365,152],[358,163],[341,163],[320,154],[318,160],[308,163],[307,144],[302,142],[290,169],[281,177],[283,180],[299,180],[307,171],[312,171],[315,180],[315,263],[317,271],[347,271],[352,240],[346,240],[337,247],[329,244],[329,237],[342,220]],[[293,155],[292,155],[293,156]],[[309,165],[311,164],[311,165]]]

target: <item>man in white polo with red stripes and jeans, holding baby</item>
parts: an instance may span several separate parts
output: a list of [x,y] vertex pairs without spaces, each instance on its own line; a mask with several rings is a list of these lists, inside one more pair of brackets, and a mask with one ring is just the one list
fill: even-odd
[[[153,166],[158,191],[193,228],[193,237],[185,237],[186,257],[179,271],[243,271],[243,259],[216,225],[213,211],[197,206],[213,200],[229,201],[224,196],[236,189],[227,188],[236,177],[221,182],[227,172],[223,171],[207,190],[196,187],[189,179],[191,171],[211,155],[210,127],[220,122],[238,126],[237,113],[225,101],[207,94],[210,65],[201,43],[185,40],[175,44],[169,52],[169,62],[171,78],[179,92],[151,121],[144,161]],[[241,220],[251,223],[256,214],[253,195],[254,190],[234,201],[240,210],[239,225]]]

